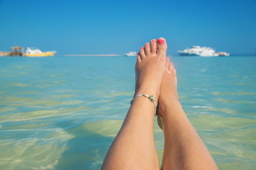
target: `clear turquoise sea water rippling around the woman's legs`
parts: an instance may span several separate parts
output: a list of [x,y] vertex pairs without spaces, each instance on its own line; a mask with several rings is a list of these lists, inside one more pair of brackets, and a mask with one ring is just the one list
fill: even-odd
[[[180,102],[220,170],[255,170],[256,57],[171,57]],[[0,169],[99,170],[136,57],[0,57]],[[162,130],[155,124],[159,160]],[[161,162],[161,161],[160,161]]]

